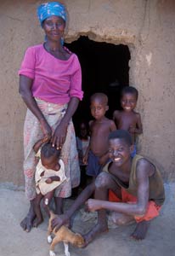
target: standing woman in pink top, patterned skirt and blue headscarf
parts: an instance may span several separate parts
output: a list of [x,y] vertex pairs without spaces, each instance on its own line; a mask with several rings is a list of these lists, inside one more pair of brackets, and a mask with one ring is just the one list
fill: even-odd
[[58,2],[43,3],[37,9],[38,19],[46,35],[44,44],[29,47],[20,67],[20,95],[27,113],[24,127],[25,194],[30,200],[29,212],[21,222],[30,231],[36,214],[34,203],[36,170],[33,145],[40,139],[51,139],[53,147],[61,148],[65,175],[70,177],[55,192],[55,212],[62,213],[63,198],[80,181],[76,137],[71,117],[82,100],[82,72],[75,54],[63,47],[66,13]]

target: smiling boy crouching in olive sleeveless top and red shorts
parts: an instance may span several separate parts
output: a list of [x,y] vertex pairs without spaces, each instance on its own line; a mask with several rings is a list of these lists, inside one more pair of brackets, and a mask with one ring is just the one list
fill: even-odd
[[108,230],[106,210],[113,212],[111,217],[116,224],[135,220],[137,225],[132,236],[136,240],[144,239],[150,220],[159,215],[165,200],[161,174],[143,156],[136,154],[131,157],[132,143],[130,134],[125,130],[110,133],[111,161],[96,178],[95,199],[87,202],[89,211],[98,211],[98,224],[84,236],[85,245],[94,236]]

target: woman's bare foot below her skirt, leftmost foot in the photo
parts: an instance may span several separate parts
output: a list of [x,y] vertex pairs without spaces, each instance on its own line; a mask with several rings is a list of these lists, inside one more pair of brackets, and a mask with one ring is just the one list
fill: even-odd
[[29,212],[27,213],[26,217],[21,221],[20,226],[23,230],[26,232],[30,232],[31,228],[33,227],[33,221],[36,218],[36,214],[33,209],[33,205],[31,204],[31,207],[29,209]]

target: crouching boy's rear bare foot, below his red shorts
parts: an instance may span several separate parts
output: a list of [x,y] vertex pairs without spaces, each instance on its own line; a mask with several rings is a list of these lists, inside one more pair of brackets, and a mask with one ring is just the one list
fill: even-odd
[[150,226],[150,221],[142,221],[139,222],[133,231],[133,234],[131,235],[132,238],[136,240],[143,240],[144,237],[146,236],[146,233],[149,229]]

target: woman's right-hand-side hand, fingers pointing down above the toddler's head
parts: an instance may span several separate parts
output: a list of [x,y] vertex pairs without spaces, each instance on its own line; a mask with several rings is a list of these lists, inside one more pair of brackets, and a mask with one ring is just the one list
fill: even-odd
[[67,134],[67,126],[65,123],[61,122],[57,128],[54,131],[54,135],[51,139],[51,143],[53,144],[53,147],[56,146],[56,148],[62,148],[63,144],[65,143],[65,137]]

